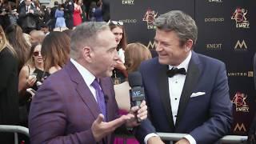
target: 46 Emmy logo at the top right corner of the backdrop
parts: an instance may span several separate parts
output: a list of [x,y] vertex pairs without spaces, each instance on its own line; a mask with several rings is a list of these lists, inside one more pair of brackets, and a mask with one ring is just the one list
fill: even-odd
[[234,13],[231,16],[231,19],[235,21],[235,25],[237,28],[250,28],[250,22],[246,18],[246,14],[248,13],[248,10],[243,9],[241,7],[238,7],[236,10],[234,10]]

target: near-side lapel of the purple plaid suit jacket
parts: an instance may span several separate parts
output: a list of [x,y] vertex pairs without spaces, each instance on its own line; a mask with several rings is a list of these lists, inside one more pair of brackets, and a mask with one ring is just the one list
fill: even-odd
[[86,82],[83,81],[82,75],[78,72],[72,62],[66,64],[66,70],[68,71],[68,74],[70,74],[71,80],[77,83],[76,90],[78,91],[78,95],[82,98],[82,102],[86,104],[96,119],[98,114],[100,114],[98,103],[96,102],[94,95],[90,92]]

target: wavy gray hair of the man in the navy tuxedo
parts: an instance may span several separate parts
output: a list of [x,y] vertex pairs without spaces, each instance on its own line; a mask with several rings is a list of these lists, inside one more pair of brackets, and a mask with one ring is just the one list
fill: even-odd
[[198,27],[194,19],[180,10],[171,10],[166,14],[161,14],[155,19],[154,25],[159,30],[174,30],[180,39],[180,46],[183,46],[189,39],[192,39],[194,44],[197,41]]

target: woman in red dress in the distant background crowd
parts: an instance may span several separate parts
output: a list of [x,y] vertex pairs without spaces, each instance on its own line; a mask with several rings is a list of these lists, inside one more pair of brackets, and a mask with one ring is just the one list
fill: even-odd
[[74,20],[74,26],[78,26],[82,23],[82,8],[79,5],[79,0],[74,1],[74,13],[73,13],[73,20]]

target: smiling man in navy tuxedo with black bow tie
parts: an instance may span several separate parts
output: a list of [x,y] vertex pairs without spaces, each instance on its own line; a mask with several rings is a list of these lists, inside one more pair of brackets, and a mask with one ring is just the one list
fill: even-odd
[[[162,14],[154,24],[158,58],[139,68],[152,125],[157,132],[186,134],[178,144],[218,143],[232,122],[225,64],[192,50],[198,28],[182,11]],[[160,142],[143,129],[136,136],[141,142]]]

